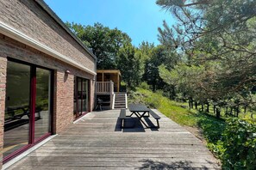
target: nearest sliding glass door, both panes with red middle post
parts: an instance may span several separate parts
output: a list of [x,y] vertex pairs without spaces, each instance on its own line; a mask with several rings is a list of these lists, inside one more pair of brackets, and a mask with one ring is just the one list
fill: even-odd
[[51,133],[52,71],[8,61],[4,161]]

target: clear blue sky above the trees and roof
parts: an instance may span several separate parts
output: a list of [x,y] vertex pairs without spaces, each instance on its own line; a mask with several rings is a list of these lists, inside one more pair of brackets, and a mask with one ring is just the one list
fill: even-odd
[[45,0],[51,9],[66,22],[103,26],[122,30],[133,39],[134,46],[143,40],[159,45],[158,27],[163,20],[169,25],[174,19],[161,10],[156,0]]

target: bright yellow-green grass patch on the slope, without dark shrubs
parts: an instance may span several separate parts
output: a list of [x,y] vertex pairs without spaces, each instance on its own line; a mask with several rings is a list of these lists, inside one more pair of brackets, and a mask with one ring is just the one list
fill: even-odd
[[212,115],[194,109],[188,109],[186,103],[169,100],[162,95],[161,91],[153,93],[147,89],[136,88],[136,92],[129,93],[128,97],[129,103],[141,103],[151,108],[157,108],[159,112],[164,113],[166,117],[171,118],[181,125],[197,127],[202,124],[201,122],[205,118],[209,118],[214,123],[215,121],[223,122]]

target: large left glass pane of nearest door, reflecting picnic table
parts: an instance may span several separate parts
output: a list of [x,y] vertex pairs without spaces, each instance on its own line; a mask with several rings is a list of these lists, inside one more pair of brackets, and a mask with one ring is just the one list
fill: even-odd
[[28,144],[30,66],[8,61],[3,156]]

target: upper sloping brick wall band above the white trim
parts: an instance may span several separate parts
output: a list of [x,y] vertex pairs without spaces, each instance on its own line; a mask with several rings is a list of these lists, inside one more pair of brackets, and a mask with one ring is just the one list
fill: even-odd
[[1,0],[0,21],[95,70],[95,59],[34,0]]

